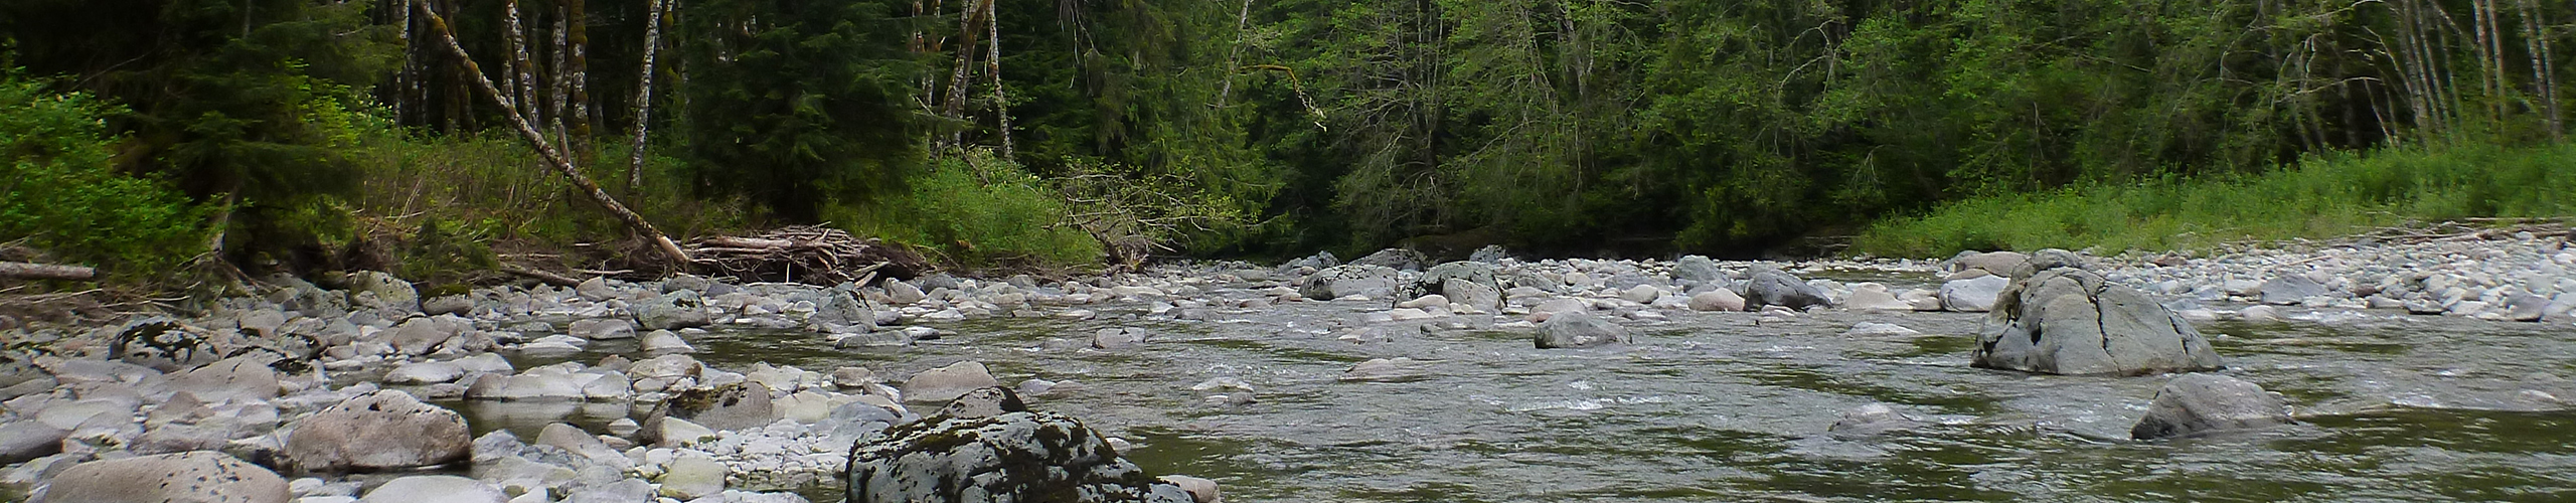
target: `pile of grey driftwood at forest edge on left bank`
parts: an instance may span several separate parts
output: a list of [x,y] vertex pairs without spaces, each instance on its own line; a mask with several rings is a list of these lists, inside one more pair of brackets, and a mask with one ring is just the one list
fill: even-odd
[[737,281],[842,284],[876,276],[914,279],[930,261],[884,240],[858,240],[829,227],[783,227],[750,237],[698,237],[688,242],[690,261],[711,276]]

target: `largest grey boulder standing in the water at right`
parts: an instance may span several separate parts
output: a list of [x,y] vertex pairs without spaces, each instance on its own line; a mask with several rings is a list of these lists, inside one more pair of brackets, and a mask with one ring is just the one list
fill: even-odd
[[2192,322],[2084,268],[2050,268],[2004,289],[1971,364],[2038,374],[2221,369]]

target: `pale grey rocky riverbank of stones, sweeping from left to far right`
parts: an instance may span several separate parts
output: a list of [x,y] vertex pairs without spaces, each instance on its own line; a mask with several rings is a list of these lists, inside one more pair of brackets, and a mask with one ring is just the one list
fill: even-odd
[[[2053,276],[2071,276],[2066,281],[2089,294],[2048,297],[2014,281],[2069,266],[2084,273]],[[2576,253],[2563,237],[2514,237],[2210,258],[2038,253],[2038,261],[2020,253],[1808,263],[1515,261],[1489,250],[1473,261],[1430,263],[1388,250],[1350,263],[1332,255],[1283,266],[1180,263],[1061,281],[922,276],[871,286],[801,286],[680,276],[652,284],[585,281],[574,289],[492,286],[430,299],[384,273],[350,273],[327,281],[330,286],[270,279],[260,297],[227,299],[198,317],[8,333],[13,346],[0,371],[0,462],[10,464],[0,469],[0,482],[44,488],[49,500],[82,500],[100,498],[82,490],[118,490],[67,482],[100,469],[139,477],[214,469],[252,472],[247,482],[206,488],[240,500],[804,500],[778,490],[837,480],[848,472],[853,444],[889,441],[889,428],[914,426],[907,436],[920,436],[920,426],[989,426],[992,420],[969,420],[945,408],[1005,384],[979,361],[920,374],[881,374],[889,369],[855,361],[832,369],[703,364],[698,346],[732,330],[793,333],[842,351],[873,351],[940,343],[961,335],[961,322],[989,317],[1226,322],[1288,302],[1332,302],[1365,307],[1350,322],[1314,322],[1350,346],[1409,338],[1406,330],[1486,330],[1525,333],[1522,348],[1535,343],[1584,351],[1636,343],[1633,330],[1718,312],[1752,312],[1752,330],[1819,310],[1883,312],[1888,322],[1855,328],[1865,335],[1909,330],[1906,312],[1986,312],[2002,304],[2012,312],[1989,322],[2002,333],[2025,320],[2022,304],[2048,304],[2043,312],[2063,315],[2069,310],[2058,310],[2056,299],[2076,297],[2089,307],[2076,312],[2094,312],[2094,320],[2161,315],[2190,322],[2334,322],[2416,312],[2568,325],[2576,310],[2571,271]],[[1850,276],[1909,281],[1837,281]],[[2105,302],[2117,299],[2107,294],[2112,286],[2138,291],[2148,304]],[[2020,325],[2048,322],[2043,317],[2056,320],[2032,312]],[[2187,330],[2190,322],[2177,328]],[[1126,351],[1159,343],[1157,338],[1139,328],[1103,328],[1028,351]],[[2115,338],[2125,338],[2123,330],[2099,333],[2097,340]],[[2174,351],[2190,351],[2197,333],[2177,330],[2164,338],[2177,338]],[[600,348],[618,351],[562,361],[603,353]],[[1419,379],[1427,359],[1435,356],[1360,361],[1342,379]],[[2202,366],[2105,366],[2110,374],[2164,369]],[[1010,390],[1030,400],[1020,408],[1036,413],[994,405],[976,418],[1010,415],[1030,420],[1030,428],[1084,431],[1051,423],[1072,418],[1041,415],[1048,397],[1082,395],[1079,382],[1028,379]],[[1203,392],[1211,405],[1260,400],[1239,379],[1208,379],[1190,390]],[[2169,390],[2174,397],[2159,397],[2154,408],[2228,402],[2251,413],[2156,415],[2141,420],[2141,439],[2277,423],[2262,413],[2277,413],[2277,400],[2259,400],[2259,390],[2249,395],[2231,382],[2179,379]],[[618,408],[623,418],[546,426],[523,439],[471,426],[453,410],[459,402],[587,402]],[[1865,408],[1852,410],[1844,418],[1850,426],[1837,423],[1837,431],[1888,431],[1906,420],[1911,418]],[[1108,449],[1051,446],[1115,451],[1126,444],[1105,433],[1090,436],[1100,436]],[[1110,469],[1103,480],[1136,482],[1118,462],[1103,467]],[[397,469],[394,477],[386,469]],[[402,477],[399,469],[428,472]],[[1164,482],[1193,488],[1195,500],[1218,498],[1203,480]]]

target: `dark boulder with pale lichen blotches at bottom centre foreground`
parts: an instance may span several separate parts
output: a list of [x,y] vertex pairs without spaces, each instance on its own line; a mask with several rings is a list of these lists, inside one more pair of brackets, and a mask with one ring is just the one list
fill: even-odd
[[940,418],[850,449],[850,503],[1193,503],[1082,420],[1056,413]]

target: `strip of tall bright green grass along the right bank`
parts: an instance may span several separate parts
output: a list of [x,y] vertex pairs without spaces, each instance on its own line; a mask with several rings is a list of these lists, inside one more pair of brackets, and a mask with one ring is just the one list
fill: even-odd
[[1852,250],[2195,250],[2336,237],[2406,219],[2571,217],[2576,144],[2334,152],[2226,178],[2161,178],[1953,201],[1868,227]]

